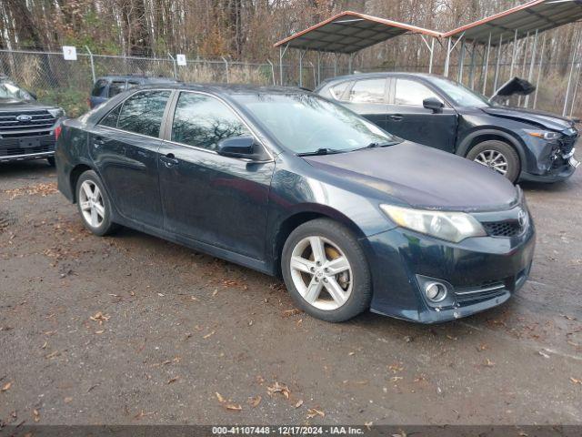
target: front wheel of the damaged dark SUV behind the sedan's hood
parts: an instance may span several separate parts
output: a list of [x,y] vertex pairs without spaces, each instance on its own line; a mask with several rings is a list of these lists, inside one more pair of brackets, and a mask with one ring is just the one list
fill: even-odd
[[509,144],[491,139],[478,143],[467,153],[467,159],[491,168],[515,183],[521,170],[517,150]]

